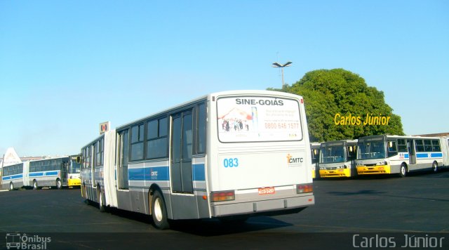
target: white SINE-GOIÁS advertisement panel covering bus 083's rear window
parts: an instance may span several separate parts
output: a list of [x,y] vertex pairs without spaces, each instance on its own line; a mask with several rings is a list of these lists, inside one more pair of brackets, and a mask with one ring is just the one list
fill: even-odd
[[217,126],[222,143],[302,140],[300,105],[294,99],[218,98]]

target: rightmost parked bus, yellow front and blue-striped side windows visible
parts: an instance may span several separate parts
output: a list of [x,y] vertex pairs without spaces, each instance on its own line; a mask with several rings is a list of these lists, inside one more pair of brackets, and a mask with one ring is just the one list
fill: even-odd
[[419,136],[366,136],[358,138],[359,175],[433,170],[443,166],[441,138]]

